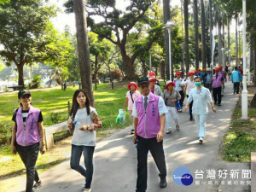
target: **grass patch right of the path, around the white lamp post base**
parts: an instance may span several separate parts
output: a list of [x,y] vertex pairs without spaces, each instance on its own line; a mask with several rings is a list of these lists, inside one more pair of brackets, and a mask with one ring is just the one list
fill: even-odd
[[236,108],[230,124],[230,131],[224,136],[224,160],[250,162],[251,152],[256,152],[256,109],[248,110],[250,120],[240,120],[241,108]]

